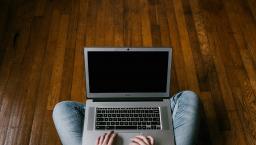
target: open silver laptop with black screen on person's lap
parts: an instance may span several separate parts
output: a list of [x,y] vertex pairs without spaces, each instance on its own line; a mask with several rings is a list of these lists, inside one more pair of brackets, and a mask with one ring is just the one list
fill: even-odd
[[171,48],[84,48],[86,109],[82,144],[114,130],[115,145],[137,135],[175,145],[170,109]]

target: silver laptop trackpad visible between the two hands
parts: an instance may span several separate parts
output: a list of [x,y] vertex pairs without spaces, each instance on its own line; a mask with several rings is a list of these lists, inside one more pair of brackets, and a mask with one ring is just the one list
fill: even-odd
[[117,137],[115,140],[115,145],[129,145],[129,143],[131,143],[131,138],[137,136],[137,135],[141,135],[140,133],[136,132],[136,133],[131,133],[131,132],[117,132]]

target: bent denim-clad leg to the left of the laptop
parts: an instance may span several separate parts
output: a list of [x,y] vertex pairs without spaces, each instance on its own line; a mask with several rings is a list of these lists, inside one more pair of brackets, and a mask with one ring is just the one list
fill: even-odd
[[58,103],[53,121],[63,145],[81,145],[84,125],[84,104],[72,101]]

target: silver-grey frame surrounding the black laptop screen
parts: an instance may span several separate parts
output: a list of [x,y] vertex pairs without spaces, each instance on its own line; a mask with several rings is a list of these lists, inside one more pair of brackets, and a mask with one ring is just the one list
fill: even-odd
[[[168,72],[167,72],[167,85],[165,92],[136,92],[136,93],[92,93],[89,86],[89,65],[88,65],[88,52],[105,51],[105,52],[127,52],[127,51],[164,51],[169,53],[168,57]],[[86,79],[86,95],[87,98],[169,98],[170,97],[170,78],[171,78],[171,48],[98,48],[98,47],[85,47],[84,48],[84,61],[85,61],[85,79]]]

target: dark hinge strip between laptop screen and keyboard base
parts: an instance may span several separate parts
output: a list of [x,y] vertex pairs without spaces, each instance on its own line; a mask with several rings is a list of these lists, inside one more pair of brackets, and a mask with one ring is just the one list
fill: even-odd
[[168,98],[94,98],[93,102],[157,102]]

